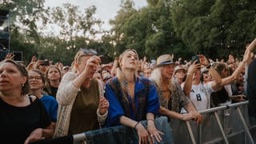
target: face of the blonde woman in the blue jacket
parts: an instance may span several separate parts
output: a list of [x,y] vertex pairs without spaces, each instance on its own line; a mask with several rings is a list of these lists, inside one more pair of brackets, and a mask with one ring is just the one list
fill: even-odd
[[122,69],[133,69],[136,70],[138,67],[138,56],[134,51],[127,51],[122,58]]

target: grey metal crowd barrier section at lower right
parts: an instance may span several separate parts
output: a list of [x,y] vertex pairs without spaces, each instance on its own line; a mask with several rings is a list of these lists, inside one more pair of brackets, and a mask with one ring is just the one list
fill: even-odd
[[201,125],[196,122],[171,120],[174,143],[210,144],[232,143],[254,144],[256,122],[250,121],[248,102],[238,102],[199,111],[203,116]]

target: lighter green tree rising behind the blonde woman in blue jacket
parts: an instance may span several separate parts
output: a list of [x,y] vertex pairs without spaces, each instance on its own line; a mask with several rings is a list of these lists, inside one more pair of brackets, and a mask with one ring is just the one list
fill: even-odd
[[[126,1],[130,3],[130,1]],[[170,18],[170,1],[148,1],[149,6],[134,10],[125,5],[119,10],[114,24],[114,38],[118,52],[132,48],[140,57],[157,58],[160,54],[178,52],[186,49],[182,41],[175,36]]]

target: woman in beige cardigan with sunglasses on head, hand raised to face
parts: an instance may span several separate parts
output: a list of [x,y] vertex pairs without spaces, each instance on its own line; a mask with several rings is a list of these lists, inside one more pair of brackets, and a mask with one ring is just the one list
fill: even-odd
[[93,78],[101,62],[96,54],[95,50],[79,50],[72,71],[58,86],[55,137],[96,130],[105,122],[109,103],[103,97],[102,82]]

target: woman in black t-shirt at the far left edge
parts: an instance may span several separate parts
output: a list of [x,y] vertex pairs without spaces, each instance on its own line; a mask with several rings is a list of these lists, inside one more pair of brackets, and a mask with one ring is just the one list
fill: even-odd
[[26,67],[10,59],[0,62],[0,135],[6,143],[51,138],[54,128],[45,106],[34,95]]

